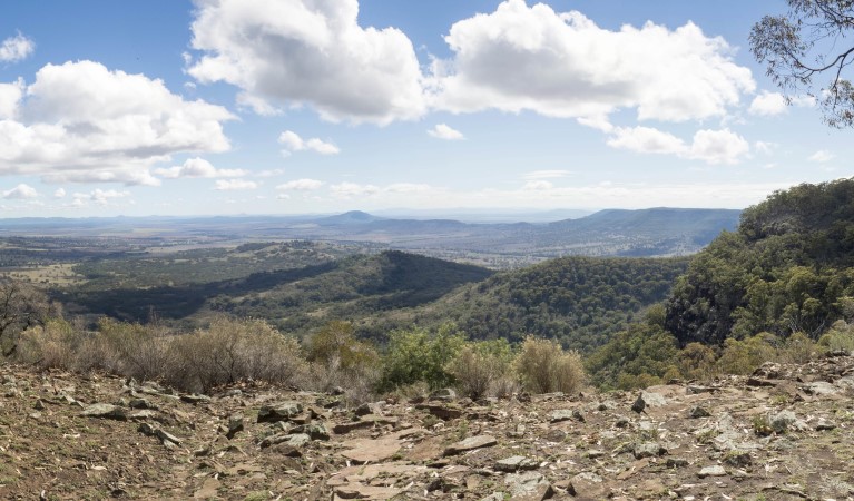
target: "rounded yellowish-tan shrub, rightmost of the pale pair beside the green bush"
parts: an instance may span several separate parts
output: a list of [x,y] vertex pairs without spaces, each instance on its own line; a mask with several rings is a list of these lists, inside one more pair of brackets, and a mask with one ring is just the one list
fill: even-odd
[[522,386],[533,393],[573,393],[585,383],[581,357],[556,341],[526,337],[514,361]]

